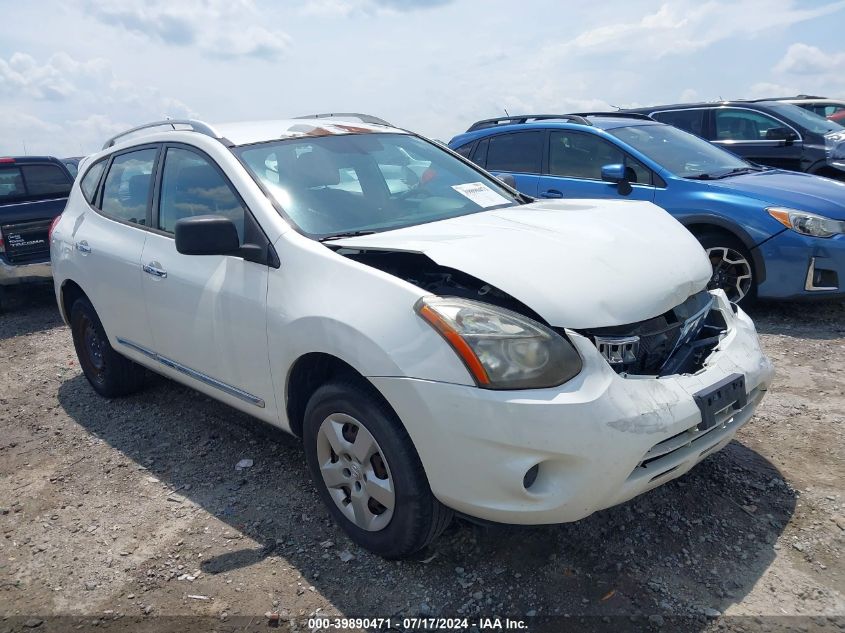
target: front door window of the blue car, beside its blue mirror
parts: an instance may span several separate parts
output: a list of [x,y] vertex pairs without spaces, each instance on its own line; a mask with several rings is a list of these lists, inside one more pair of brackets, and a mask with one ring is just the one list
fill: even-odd
[[629,182],[651,184],[651,170],[622,150],[593,134],[553,131],[549,135],[549,173],[552,176],[601,180],[604,165],[624,164]]

